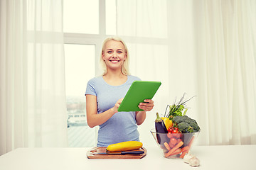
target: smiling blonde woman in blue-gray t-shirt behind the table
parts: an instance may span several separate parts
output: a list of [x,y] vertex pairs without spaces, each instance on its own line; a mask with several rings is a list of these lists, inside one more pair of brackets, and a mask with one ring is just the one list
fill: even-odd
[[137,125],[146,118],[146,111],[151,111],[154,101],[144,100],[139,103],[139,112],[118,112],[132,82],[140,80],[129,75],[129,52],[120,38],[107,38],[102,45],[100,62],[105,69],[101,77],[90,79],[87,83],[86,113],[90,128],[100,126],[97,147],[107,147],[113,143],[129,140],[139,141]]

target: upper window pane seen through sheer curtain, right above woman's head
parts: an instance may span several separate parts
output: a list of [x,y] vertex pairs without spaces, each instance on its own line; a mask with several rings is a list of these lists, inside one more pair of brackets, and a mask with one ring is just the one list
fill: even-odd
[[166,1],[118,1],[117,34],[167,38]]

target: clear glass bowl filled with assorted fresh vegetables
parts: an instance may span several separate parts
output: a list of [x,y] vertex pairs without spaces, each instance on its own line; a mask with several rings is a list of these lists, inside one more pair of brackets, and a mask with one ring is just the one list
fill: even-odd
[[191,98],[183,101],[184,96],[178,103],[167,105],[170,111],[167,115],[165,112],[164,117],[160,118],[159,113],[156,113],[155,129],[151,130],[166,158],[183,158],[201,130],[196,120],[186,115],[186,102]]

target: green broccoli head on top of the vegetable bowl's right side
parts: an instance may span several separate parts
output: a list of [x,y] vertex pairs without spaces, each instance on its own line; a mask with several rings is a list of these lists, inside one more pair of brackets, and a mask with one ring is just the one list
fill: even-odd
[[178,126],[181,132],[198,132],[200,130],[196,120],[189,118],[187,115],[175,116],[173,122]]

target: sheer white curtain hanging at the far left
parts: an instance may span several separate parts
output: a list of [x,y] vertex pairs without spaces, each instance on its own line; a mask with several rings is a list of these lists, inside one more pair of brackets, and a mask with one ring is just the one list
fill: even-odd
[[63,2],[0,3],[0,154],[66,147]]

